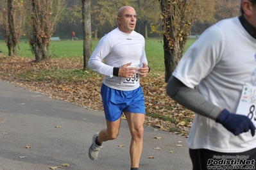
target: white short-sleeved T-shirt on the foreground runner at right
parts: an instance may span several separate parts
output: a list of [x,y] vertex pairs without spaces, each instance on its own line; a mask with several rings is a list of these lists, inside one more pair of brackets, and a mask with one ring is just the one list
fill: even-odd
[[[256,40],[238,17],[221,20],[209,27],[187,50],[173,75],[187,87],[196,89],[209,102],[235,113],[243,86],[256,87]],[[250,109],[244,108],[244,114]],[[255,111],[253,112],[255,124]],[[205,148],[225,153],[256,148],[256,135],[235,136],[216,121],[196,114],[189,148]]]

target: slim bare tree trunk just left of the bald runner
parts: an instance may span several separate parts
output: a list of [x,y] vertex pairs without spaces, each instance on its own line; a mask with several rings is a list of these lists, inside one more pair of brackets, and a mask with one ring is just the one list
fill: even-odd
[[81,0],[83,13],[83,70],[88,69],[92,54],[92,31],[90,24],[90,0]]

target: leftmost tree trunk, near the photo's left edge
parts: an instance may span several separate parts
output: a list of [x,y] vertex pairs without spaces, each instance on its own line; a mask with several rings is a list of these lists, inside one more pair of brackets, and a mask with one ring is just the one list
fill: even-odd
[[4,40],[8,56],[16,55],[16,47],[22,35],[23,1],[7,0],[7,10],[3,9]]

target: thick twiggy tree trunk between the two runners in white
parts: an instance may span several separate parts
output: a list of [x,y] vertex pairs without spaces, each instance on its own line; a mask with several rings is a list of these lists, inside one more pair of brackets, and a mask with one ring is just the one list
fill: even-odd
[[162,11],[165,82],[182,58],[192,24],[192,0],[158,0]]

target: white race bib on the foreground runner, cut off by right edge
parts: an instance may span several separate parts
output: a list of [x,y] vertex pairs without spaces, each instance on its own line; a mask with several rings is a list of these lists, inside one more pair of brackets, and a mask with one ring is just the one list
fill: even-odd
[[256,88],[244,86],[239,104],[237,106],[237,114],[248,116],[256,126]]

